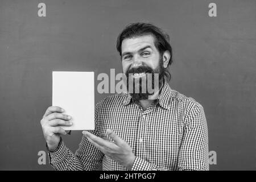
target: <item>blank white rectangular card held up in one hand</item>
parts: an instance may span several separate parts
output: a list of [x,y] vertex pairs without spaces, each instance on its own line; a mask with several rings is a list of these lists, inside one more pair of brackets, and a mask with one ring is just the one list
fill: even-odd
[[64,130],[94,130],[94,72],[52,72],[52,105],[72,117]]

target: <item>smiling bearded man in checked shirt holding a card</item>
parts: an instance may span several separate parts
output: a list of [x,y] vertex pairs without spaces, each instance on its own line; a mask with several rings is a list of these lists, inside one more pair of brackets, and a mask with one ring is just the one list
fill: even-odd
[[168,85],[172,64],[168,35],[153,24],[132,23],[119,34],[117,50],[127,92],[97,103],[96,129],[83,131],[75,154],[60,137],[67,134],[60,125],[72,125],[71,116],[62,114],[58,106],[46,110],[41,124],[51,166],[56,170],[97,170],[101,165],[103,170],[208,170],[204,109]]

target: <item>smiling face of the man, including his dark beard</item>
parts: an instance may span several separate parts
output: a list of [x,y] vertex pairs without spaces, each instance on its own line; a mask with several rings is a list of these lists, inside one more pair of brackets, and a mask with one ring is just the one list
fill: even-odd
[[[147,85],[150,84],[152,89],[154,89],[155,84],[159,86],[164,73],[163,60],[155,47],[154,36],[143,35],[124,39],[122,42],[122,67],[123,73],[128,78],[127,89],[134,100],[145,100],[148,99],[148,96],[154,94],[148,92]],[[148,73],[151,73],[151,76]],[[158,76],[156,77],[157,82],[154,82],[155,76]],[[143,90],[146,90],[146,92],[143,92]]]

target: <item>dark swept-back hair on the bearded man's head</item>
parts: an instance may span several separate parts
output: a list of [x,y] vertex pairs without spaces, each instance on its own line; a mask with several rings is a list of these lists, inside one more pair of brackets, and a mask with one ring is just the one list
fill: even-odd
[[[124,39],[136,38],[143,35],[152,35],[154,37],[155,47],[160,53],[160,59],[162,60],[163,53],[165,51],[170,52],[170,60],[167,68],[164,68],[164,76],[167,81],[171,80],[171,73],[168,71],[168,67],[172,64],[172,47],[169,43],[169,35],[164,33],[163,30],[154,26],[151,23],[131,23],[128,24],[125,29],[118,35],[117,38],[117,51],[122,56],[122,42]],[[162,63],[160,63],[162,64]]]

